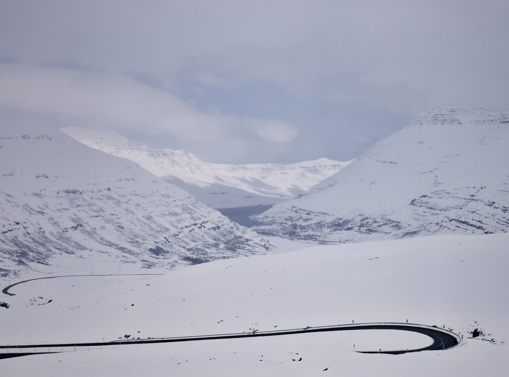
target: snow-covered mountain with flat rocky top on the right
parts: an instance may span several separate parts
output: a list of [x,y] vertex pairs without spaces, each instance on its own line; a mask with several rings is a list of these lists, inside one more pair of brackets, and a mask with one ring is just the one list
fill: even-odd
[[509,113],[433,107],[308,194],[256,216],[323,241],[509,228]]

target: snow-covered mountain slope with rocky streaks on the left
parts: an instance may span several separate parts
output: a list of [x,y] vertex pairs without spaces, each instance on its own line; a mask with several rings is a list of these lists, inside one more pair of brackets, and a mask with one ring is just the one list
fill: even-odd
[[269,247],[130,161],[59,130],[2,125],[0,273],[71,259],[86,270],[89,258],[173,268]]

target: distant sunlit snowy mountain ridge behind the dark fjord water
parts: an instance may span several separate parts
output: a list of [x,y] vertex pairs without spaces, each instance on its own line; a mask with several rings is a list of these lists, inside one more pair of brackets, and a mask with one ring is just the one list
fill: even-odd
[[62,131],[89,147],[136,162],[212,208],[272,205],[295,198],[351,162],[322,158],[289,165],[214,164],[186,151],[153,150],[111,131]]

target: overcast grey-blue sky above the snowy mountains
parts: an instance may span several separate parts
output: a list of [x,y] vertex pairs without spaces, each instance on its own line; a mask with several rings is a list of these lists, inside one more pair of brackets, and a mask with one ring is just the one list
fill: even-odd
[[217,163],[350,160],[429,106],[509,110],[509,2],[0,0],[0,125]]

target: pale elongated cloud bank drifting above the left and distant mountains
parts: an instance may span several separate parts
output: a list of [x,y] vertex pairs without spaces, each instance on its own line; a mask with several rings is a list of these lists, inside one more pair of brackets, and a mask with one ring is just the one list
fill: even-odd
[[167,91],[116,74],[0,64],[0,82],[0,104],[60,118],[54,121],[56,127],[72,124],[159,134],[177,146],[200,146],[200,154],[209,157],[224,152],[225,146],[234,157],[243,157],[248,150],[243,138],[256,146],[291,142],[296,135],[285,122],[223,115],[215,109],[199,111]]

